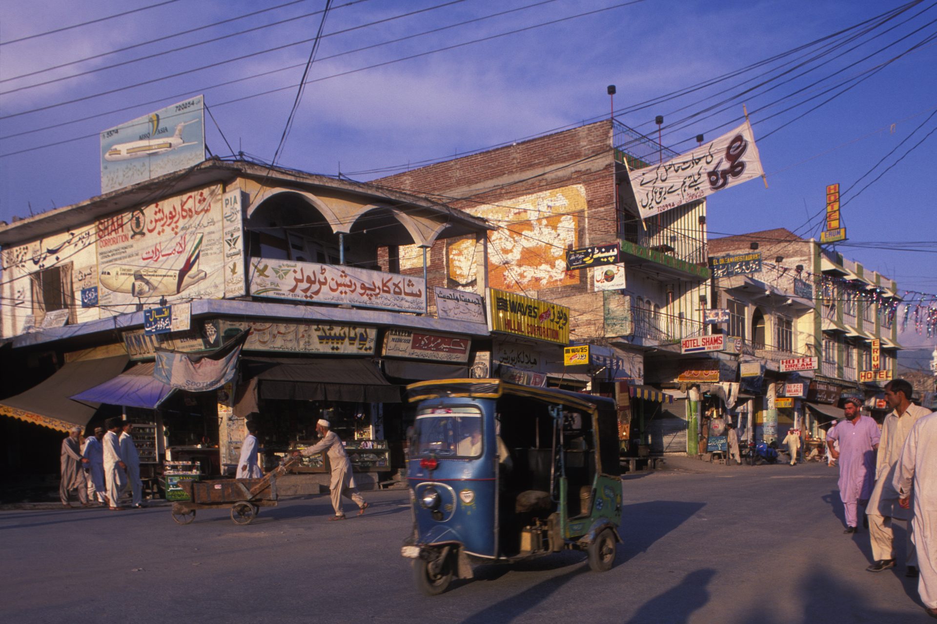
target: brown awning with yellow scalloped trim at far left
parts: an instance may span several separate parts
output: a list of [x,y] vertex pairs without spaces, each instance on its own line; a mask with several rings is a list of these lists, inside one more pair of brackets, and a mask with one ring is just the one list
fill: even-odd
[[111,379],[124,370],[127,361],[127,356],[115,356],[68,362],[39,385],[0,400],[0,414],[59,431],[84,427],[100,405],[97,401],[85,405],[69,397]]

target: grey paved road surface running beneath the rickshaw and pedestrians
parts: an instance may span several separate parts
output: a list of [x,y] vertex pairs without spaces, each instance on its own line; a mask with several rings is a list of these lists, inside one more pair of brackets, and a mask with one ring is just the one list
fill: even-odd
[[225,511],[200,511],[179,527],[166,507],[0,512],[3,618],[930,621],[903,570],[865,572],[868,533],[842,534],[836,474],[823,465],[628,477],[625,542],[612,571],[591,573],[583,555],[560,553],[476,568],[475,580],[435,598],[416,593],[399,557],[410,523],[406,492],[365,495],[372,506],[361,518],[327,522],[328,498],[316,496],[281,501],[248,527]]

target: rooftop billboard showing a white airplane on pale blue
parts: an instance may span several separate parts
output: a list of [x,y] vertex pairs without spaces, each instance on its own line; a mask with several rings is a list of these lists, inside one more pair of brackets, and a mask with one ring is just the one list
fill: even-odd
[[101,194],[205,159],[204,97],[196,95],[101,133]]

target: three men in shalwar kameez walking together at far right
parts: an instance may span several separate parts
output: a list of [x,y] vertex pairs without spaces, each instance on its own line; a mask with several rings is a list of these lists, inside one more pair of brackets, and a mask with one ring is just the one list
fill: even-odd
[[[860,414],[861,401],[846,399],[840,421],[826,435],[830,457],[840,463],[840,499],[846,529],[858,528],[865,507],[874,562],[869,572],[895,567],[894,520],[907,523],[905,575],[917,577],[917,590],[930,617],[937,617],[937,413],[911,402],[912,385],[896,379],[885,385],[892,412],[881,431]],[[913,508],[913,509],[912,509]]]

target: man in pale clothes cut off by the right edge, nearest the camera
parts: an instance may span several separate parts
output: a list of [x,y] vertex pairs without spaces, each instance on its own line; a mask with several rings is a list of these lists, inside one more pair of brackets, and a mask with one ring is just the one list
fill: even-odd
[[[937,413],[918,418],[901,449],[892,486],[900,505],[914,505],[912,539],[917,549],[917,593],[937,617]],[[929,452],[930,451],[930,452]],[[913,500],[912,500],[913,499]]]

